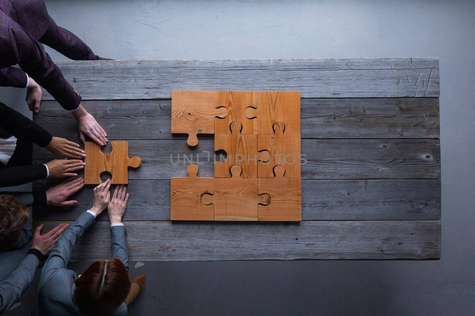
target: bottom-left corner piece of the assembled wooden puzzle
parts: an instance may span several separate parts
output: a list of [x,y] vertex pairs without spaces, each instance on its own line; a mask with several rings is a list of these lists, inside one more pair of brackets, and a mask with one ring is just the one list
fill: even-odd
[[188,166],[188,177],[170,179],[171,220],[214,220],[214,205],[201,203],[201,195],[214,194],[214,178],[198,177],[198,166]]

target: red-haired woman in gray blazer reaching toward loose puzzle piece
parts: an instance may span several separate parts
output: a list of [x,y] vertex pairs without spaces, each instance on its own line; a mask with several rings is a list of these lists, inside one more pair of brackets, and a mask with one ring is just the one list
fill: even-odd
[[[129,280],[129,254],[122,217],[129,193],[118,185],[111,198],[110,179],[94,189],[93,207],[85,211],[56,242],[38,286],[38,304],[32,315],[126,315],[140,294],[145,275]],[[112,258],[93,262],[81,275],[66,268],[73,248],[95,217],[105,208],[111,221]]]

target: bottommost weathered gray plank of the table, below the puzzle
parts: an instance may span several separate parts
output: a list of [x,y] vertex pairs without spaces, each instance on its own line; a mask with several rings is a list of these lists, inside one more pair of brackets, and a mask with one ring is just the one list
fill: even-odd
[[[46,222],[44,230],[57,223]],[[167,221],[125,222],[125,227],[132,261],[440,258],[440,221]],[[72,260],[109,258],[109,231],[109,223],[95,222]]]

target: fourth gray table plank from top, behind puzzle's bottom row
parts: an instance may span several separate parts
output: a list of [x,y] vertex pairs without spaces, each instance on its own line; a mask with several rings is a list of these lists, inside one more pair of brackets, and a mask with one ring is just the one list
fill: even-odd
[[[37,181],[34,190],[46,190],[58,181]],[[70,199],[69,208],[35,207],[37,221],[75,220],[91,207],[93,185]],[[170,220],[170,181],[131,180],[124,220]],[[271,197],[272,198],[272,197]],[[303,220],[438,220],[440,180],[304,180]],[[106,212],[97,217],[108,221]]]

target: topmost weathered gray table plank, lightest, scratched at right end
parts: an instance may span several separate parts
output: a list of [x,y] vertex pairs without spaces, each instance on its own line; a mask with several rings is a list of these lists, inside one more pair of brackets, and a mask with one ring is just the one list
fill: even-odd
[[[170,99],[171,90],[299,90],[303,98],[438,97],[437,58],[57,62],[84,99]],[[52,99],[46,91],[43,99]]]

